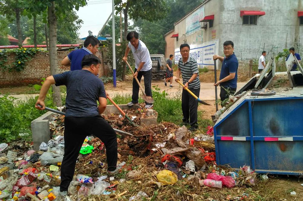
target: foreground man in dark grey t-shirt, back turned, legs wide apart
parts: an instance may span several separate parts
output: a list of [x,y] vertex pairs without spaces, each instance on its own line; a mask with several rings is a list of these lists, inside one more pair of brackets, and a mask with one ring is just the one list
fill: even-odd
[[[116,132],[100,116],[106,108],[107,100],[103,82],[96,77],[99,65],[99,58],[88,54],[82,60],[82,70],[67,71],[47,77],[35,105],[39,110],[45,109],[44,100],[51,84],[66,86],[65,147],[59,193],[61,196],[67,195],[80,149],[88,135],[95,135],[105,144],[108,173],[115,173],[118,170],[116,167],[118,158]],[[98,107],[97,100],[99,101]]]

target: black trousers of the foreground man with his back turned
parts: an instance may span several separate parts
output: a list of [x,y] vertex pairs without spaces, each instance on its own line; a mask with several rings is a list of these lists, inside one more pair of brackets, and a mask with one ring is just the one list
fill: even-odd
[[67,191],[75,173],[75,165],[86,136],[95,135],[106,147],[107,170],[117,166],[117,135],[108,122],[101,116],[65,117],[64,157],[61,166],[60,191]]

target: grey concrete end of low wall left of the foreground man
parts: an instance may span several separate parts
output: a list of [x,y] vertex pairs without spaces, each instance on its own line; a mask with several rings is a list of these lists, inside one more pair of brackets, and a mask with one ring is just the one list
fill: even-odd
[[33,120],[31,123],[35,151],[39,150],[39,146],[42,142],[47,143],[51,139],[49,121],[51,120],[52,114],[52,112],[47,112]]

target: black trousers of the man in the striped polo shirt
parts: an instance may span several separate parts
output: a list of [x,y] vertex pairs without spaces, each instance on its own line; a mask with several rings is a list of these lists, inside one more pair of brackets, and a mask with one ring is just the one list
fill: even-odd
[[[199,97],[200,88],[189,90]],[[182,89],[181,101],[183,122],[189,123],[193,127],[198,127],[198,101],[185,89]]]

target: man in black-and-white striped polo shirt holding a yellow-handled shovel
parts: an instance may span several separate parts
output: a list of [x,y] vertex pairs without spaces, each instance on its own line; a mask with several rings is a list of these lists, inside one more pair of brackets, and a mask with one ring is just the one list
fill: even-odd
[[[177,79],[175,81],[180,81],[180,74],[182,75],[182,81],[184,87],[187,87],[192,93],[197,97],[200,94],[200,80],[199,80],[199,70],[197,61],[195,58],[189,56],[190,47],[188,44],[180,45],[181,58],[178,62]],[[188,93],[183,87],[182,90],[182,113],[183,113],[183,123],[190,124],[189,130],[198,129],[198,101]]]

